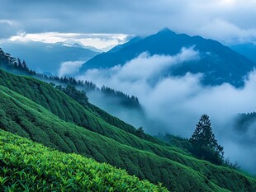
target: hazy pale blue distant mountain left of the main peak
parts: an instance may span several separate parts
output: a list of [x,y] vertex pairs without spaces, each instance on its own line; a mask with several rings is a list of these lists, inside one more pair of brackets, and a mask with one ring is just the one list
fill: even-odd
[[81,44],[68,43],[48,44],[36,41],[7,41],[0,45],[2,49],[12,53],[14,57],[25,59],[28,67],[32,70],[36,70],[38,73],[55,75],[59,74],[61,63],[84,62],[99,54],[91,49],[85,49]]

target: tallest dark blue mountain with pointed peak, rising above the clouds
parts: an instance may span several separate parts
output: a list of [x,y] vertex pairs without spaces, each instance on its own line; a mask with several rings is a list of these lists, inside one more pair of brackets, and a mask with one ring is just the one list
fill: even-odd
[[244,85],[244,76],[255,67],[255,63],[216,40],[176,34],[164,28],[157,34],[145,38],[136,37],[107,53],[98,54],[83,64],[80,73],[90,68],[111,68],[117,64],[123,65],[144,52],[149,55],[176,55],[183,48],[195,49],[199,52],[200,59],[168,68],[166,73],[161,75],[183,76],[187,72],[203,73],[202,82],[206,85],[229,82],[235,87],[240,87]]

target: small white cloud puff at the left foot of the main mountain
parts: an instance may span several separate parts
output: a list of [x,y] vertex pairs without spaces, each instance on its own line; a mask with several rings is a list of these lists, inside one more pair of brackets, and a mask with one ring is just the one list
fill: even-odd
[[73,75],[78,73],[79,68],[82,66],[84,61],[66,61],[61,63],[59,68],[59,77]]

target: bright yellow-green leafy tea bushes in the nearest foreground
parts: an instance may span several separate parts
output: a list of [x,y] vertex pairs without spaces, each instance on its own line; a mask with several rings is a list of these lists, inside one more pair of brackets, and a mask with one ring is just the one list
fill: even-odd
[[126,171],[0,129],[1,191],[167,191]]

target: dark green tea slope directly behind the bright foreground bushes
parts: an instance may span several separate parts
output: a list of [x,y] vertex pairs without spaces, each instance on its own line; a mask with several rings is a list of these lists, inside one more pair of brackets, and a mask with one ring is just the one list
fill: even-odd
[[[98,162],[109,162],[112,165],[125,168],[130,174],[177,190],[199,189],[203,176],[177,162],[158,157],[152,153],[130,148],[117,143],[111,138],[83,129],[52,115],[40,105],[25,97],[0,86],[1,119],[0,127],[18,133],[34,141],[64,152],[78,152],[86,157],[94,157]],[[26,104],[25,104],[26,103]],[[173,172],[174,171],[174,172]],[[187,185],[177,185],[175,180],[186,178]],[[196,175],[194,175],[196,173]],[[163,176],[163,180],[160,177]],[[178,179],[179,177],[179,179]],[[193,179],[192,179],[193,178]],[[173,180],[173,183],[172,183]],[[179,181],[180,182],[180,181]],[[209,183],[208,185],[211,185]],[[209,186],[206,189],[211,189]]]

